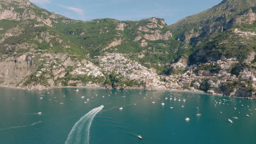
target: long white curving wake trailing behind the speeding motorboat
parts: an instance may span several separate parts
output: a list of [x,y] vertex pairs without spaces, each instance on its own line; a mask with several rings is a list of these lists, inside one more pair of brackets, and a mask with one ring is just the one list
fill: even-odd
[[65,144],[89,144],[89,134],[92,120],[97,115],[97,113],[103,109],[103,107],[103,105],[96,107],[95,109],[92,109],[91,111],[86,113],[86,115],[84,115],[82,118],[80,118],[70,131]]

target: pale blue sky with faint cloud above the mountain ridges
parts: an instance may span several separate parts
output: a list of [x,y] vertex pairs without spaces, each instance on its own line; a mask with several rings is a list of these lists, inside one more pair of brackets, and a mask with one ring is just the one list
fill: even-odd
[[209,9],[222,0],[30,0],[49,11],[71,19],[89,21],[110,18],[142,20],[165,19],[171,25],[182,18]]

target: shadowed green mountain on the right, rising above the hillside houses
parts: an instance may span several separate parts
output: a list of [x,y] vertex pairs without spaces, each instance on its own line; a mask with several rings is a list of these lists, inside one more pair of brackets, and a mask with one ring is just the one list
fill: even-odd
[[[211,9],[169,26],[175,39],[196,47],[190,63],[255,56],[254,0],[225,0]],[[253,59],[251,59],[253,60]]]

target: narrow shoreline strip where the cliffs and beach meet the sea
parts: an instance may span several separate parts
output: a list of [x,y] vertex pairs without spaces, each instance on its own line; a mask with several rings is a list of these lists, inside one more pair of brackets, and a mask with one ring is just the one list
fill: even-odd
[[[11,88],[11,89],[27,90],[27,91],[46,91],[46,90],[54,89],[54,88],[95,88],[95,89],[106,89],[106,88],[100,87],[100,86],[50,87],[50,88],[45,88],[45,89],[42,89],[42,90],[39,90],[39,89],[27,89],[27,88],[25,88],[25,87],[2,86],[2,85],[0,85],[0,87],[3,87],[3,88]],[[115,88],[108,88],[108,89],[115,89]],[[219,94],[219,93],[210,94],[210,93],[206,93],[206,92],[199,91],[199,90],[191,91],[191,90],[187,90],[187,89],[168,89],[168,88],[166,88],[166,89],[139,89],[139,88],[136,89],[136,88],[131,88],[131,89],[125,89],[125,90],[174,91],[174,92],[188,92],[188,93],[197,93],[197,94],[215,95],[215,96],[220,96],[220,97],[228,97],[228,96],[225,96],[225,95]],[[241,98],[241,99],[248,99],[248,100],[256,100],[256,99],[250,99],[250,98],[246,98],[246,97],[232,97],[232,98]]]

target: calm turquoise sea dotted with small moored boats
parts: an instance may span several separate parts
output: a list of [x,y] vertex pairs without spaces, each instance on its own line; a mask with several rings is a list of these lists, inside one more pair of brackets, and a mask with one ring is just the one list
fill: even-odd
[[[0,88],[0,143],[256,143],[256,100],[78,89]],[[196,107],[201,116],[196,116]]]

